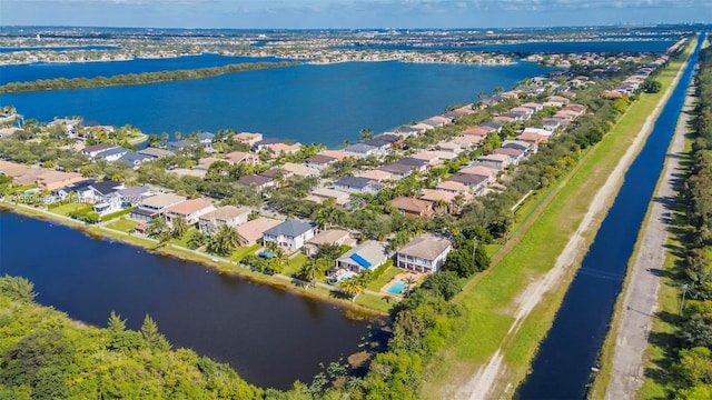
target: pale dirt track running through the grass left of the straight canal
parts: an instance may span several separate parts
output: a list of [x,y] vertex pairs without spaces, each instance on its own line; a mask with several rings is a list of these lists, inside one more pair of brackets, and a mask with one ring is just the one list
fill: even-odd
[[[568,243],[564,248],[564,251],[556,259],[554,267],[540,280],[534,281],[527,286],[527,288],[517,298],[517,310],[515,313],[515,320],[512,323],[507,334],[502,338],[502,343],[507,343],[520,330],[522,322],[528,317],[532,310],[540,303],[543,296],[561,284],[562,279],[565,277],[566,271],[576,267],[574,264],[578,256],[586,251],[586,242],[584,233],[590,231],[594,227],[594,221],[597,216],[602,216],[611,203],[611,200],[615,197],[623,182],[623,177],[629,166],[634,160],[635,156],[640,152],[645,138],[650,133],[653,122],[657,118],[657,114],[662,110],[662,107],[668,102],[672,90],[678,84],[682,71],[684,71],[686,63],[683,63],[682,68],[675,76],[672,84],[665,91],[665,94],[660,99],[655,109],[645,119],[645,123],[635,136],[633,143],[629,147],[625,154],[621,158],[615,169],[609,176],[603,187],[599,189],[593,198],[589,211],[581,221],[581,226],[574,232],[568,240]],[[498,398],[497,393],[492,393],[493,388],[497,383],[497,378],[503,376],[503,370],[506,368],[503,362],[502,346],[490,359],[484,368],[481,368],[471,380],[461,387],[457,391],[457,399],[478,400],[487,398]]]

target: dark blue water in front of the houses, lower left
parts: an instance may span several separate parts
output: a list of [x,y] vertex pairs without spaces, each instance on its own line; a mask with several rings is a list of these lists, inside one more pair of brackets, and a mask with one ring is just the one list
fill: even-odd
[[4,274],[28,278],[38,302],[91,324],[106,327],[116,311],[138,329],[150,314],[174,348],[228,362],[260,387],[310,382],[320,362],[357,352],[372,324],[334,304],[0,211]]

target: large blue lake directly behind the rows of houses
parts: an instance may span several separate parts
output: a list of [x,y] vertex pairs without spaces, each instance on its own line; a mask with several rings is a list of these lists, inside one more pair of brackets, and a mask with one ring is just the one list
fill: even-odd
[[[71,68],[71,67],[68,67]],[[142,86],[1,94],[26,118],[82,116],[148,133],[198,130],[263,132],[265,137],[335,147],[374,131],[475,101],[552,71],[532,62],[506,67],[345,62],[299,66]]]

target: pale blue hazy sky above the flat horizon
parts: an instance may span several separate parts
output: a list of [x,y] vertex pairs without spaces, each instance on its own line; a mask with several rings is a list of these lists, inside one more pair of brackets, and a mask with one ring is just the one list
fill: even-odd
[[0,26],[339,29],[712,22],[712,0],[0,0]]

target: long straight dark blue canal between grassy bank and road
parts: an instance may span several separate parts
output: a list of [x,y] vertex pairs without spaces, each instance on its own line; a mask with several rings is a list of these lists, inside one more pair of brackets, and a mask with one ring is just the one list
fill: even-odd
[[609,330],[615,298],[668,157],[668,147],[702,41],[655,121],[644,148],[626,172],[621,191],[566,292],[552,329],[542,342],[532,372],[515,398],[585,398],[591,368]]

